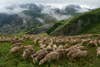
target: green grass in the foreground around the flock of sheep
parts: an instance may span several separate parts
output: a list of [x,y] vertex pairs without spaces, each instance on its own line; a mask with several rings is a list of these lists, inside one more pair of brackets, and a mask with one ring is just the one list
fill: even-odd
[[[23,43],[26,45],[33,44],[31,40]],[[36,49],[38,48],[38,45],[35,44],[34,46]],[[100,67],[100,57],[96,57],[95,47],[87,47],[90,55],[86,58],[74,61],[62,58],[61,60],[52,61],[41,66],[33,64],[31,60],[24,60],[19,54],[10,54],[10,48],[11,43],[0,43],[0,67]]]

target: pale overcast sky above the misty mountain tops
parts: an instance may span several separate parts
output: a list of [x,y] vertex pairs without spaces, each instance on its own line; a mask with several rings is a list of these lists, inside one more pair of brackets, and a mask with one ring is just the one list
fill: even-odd
[[42,3],[52,5],[79,4],[89,7],[100,7],[100,0],[0,0],[0,7],[20,3]]

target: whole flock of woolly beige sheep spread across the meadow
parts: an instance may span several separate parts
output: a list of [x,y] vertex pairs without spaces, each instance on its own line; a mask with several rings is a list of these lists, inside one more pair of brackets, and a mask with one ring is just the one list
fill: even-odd
[[[23,41],[30,39],[32,45],[23,45]],[[32,59],[33,63],[39,62],[39,65],[69,58],[71,60],[87,57],[87,46],[96,47],[97,56],[100,55],[100,35],[87,34],[78,36],[36,36],[24,35],[21,38],[6,38],[6,41],[12,43],[10,53],[19,53],[24,59]],[[1,40],[0,41],[5,41]],[[38,45],[39,50],[35,50]]]

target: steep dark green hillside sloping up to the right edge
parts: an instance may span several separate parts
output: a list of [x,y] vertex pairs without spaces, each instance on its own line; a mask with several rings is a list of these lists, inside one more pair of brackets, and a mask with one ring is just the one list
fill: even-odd
[[[75,35],[86,33],[100,33],[100,9],[92,10],[68,20],[56,23],[47,33],[50,35]],[[56,26],[60,24],[59,26]]]

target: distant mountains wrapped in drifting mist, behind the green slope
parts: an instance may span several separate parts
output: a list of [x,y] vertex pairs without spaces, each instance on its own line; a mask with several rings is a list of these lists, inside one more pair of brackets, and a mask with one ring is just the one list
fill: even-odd
[[55,22],[89,10],[73,4],[59,9],[35,3],[9,5],[4,9],[0,11],[0,34],[42,33]]

